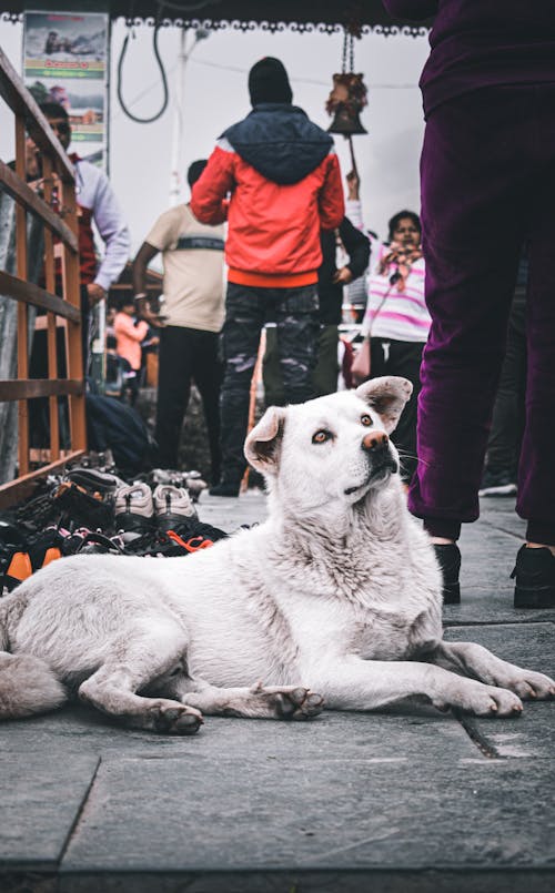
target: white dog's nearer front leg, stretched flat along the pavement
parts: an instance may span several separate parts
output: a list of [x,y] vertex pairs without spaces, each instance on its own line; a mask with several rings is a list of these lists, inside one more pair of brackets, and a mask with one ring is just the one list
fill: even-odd
[[411,697],[425,697],[440,710],[509,717],[522,702],[503,688],[485,686],[442,667],[413,661],[363,660],[347,656],[312,669],[311,687],[335,710],[376,710]]

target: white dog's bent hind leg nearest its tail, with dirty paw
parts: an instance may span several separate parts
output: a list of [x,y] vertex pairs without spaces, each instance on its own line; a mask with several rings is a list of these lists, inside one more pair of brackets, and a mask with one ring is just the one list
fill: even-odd
[[153,679],[181,667],[186,649],[186,636],[175,623],[149,618],[141,629],[127,631],[99,669],[79,688],[79,697],[93,707],[110,713],[134,729],[169,734],[193,734],[202,723],[194,707],[167,698],[137,694]]

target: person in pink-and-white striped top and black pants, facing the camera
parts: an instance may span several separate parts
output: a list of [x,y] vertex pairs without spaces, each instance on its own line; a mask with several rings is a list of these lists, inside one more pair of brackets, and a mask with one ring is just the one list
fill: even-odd
[[401,451],[402,477],[408,483],[416,468],[416,404],[422,352],[431,317],[424,300],[422,227],[413,211],[400,211],[389,223],[389,243],[382,244],[367,277],[367,303],[361,334],[370,339],[371,378],[403,375],[414,390],[393,440]]

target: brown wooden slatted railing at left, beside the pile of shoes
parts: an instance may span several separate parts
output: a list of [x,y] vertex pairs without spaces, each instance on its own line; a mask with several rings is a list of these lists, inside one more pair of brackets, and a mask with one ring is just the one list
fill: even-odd
[[[16,501],[32,480],[77,458],[87,448],[83,358],[79,282],[78,222],[73,168],[36,101],[0,50],[0,98],[13,113],[16,128],[14,170],[0,161],[0,187],[16,201],[16,273],[0,272],[0,294],[18,302],[17,380],[0,380],[0,400],[18,400],[18,474],[0,486],[0,507]],[[26,182],[26,139],[31,136],[41,152],[43,197]],[[52,209],[57,191],[59,213]],[[28,276],[27,214],[44,225],[44,285]],[[54,236],[61,244],[62,297],[54,294]],[[29,305],[47,312],[48,378],[29,378]],[[59,377],[57,316],[67,321],[67,378]],[[62,456],[58,398],[69,402],[70,446]],[[29,400],[49,398],[50,461],[31,468],[29,449]],[[3,436],[7,433],[2,433]],[[16,436],[16,432],[10,433]]]

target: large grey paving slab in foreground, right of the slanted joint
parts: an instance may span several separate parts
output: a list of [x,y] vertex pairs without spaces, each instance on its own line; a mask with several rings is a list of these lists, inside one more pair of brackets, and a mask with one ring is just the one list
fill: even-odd
[[62,872],[549,867],[544,782],[527,760],[123,758],[101,765]]

